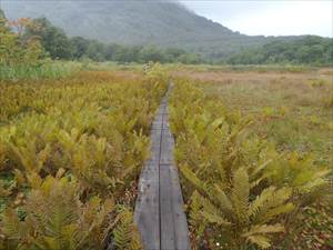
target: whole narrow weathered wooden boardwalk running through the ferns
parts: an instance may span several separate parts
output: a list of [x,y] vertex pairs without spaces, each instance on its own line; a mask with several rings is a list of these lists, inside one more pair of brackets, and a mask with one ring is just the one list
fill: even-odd
[[[170,90],[168,91],[170,92]],[[134,219],[145,250],[190,250],[183,198],[173,159],[168,93],[151,129],[151,157],[140,177]]]

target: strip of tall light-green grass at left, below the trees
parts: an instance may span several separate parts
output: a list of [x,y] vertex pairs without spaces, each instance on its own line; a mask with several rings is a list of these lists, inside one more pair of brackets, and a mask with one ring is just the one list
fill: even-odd
[[22,79],[57,79],[68,77],[82,68],[80,62],[44,61],[39,66],[0,64],[0,80],[17,81]]

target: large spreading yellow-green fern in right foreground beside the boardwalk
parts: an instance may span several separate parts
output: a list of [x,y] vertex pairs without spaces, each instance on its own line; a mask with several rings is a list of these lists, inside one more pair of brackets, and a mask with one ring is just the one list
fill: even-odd
[[[189,178],[191,170],[182,168],[181,171],[192,183],[193,179]],[[219,184],[193,192],[191,207],[194,209],[191,209],[190,218],[191,221],[199,220],[212,227],[212,240],[208,242],[211,249],[219,249],[219,246],[242,249],[252,243],[265,249],[271,247],[272,233],[284,231],[284,227],[275,220],[280,214],[293,210],[292,203],[287,202],[291,190],[271,187],[251,201],[250,186],[246,170],[240,168],[232,178],[232,188],[228,193]]]

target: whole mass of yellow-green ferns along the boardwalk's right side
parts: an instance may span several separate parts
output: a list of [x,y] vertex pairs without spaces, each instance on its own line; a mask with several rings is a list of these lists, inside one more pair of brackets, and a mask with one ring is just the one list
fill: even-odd
[[200,88],[178,79],[170,103],[193,247],[276,247],[296,214],[331,188],[330,170],[248,136],[251,120]]

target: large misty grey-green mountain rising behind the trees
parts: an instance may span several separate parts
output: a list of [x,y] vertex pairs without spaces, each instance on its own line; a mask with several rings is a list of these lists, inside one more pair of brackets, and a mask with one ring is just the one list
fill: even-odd
[[47,17],[69,36],[183,48],[209,58],[223,58],[276,39],[234,32],[170,0],[1,0],[1,8],[9,19]]

